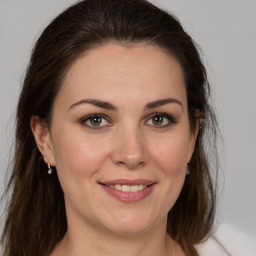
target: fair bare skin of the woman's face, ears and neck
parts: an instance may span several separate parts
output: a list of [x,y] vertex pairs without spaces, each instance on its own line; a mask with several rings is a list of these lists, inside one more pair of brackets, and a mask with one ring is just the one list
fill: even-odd
[[[172,101],[146,107],[167,98]],[[171,121],[158,114],[162,123],[154,122],[156,113]],[[90,114],[103,115],[99,126]],[[114,43],[85,52],[64,79],[51,126],[34,116],[31,128],[65,195],[68,231],[51,255],[184,255],[166,223],[198,128],[191,131],[182,69],[173,57],[158,47]],[[121,178],[156,185],[144,199],[123,202],[99,185]]]

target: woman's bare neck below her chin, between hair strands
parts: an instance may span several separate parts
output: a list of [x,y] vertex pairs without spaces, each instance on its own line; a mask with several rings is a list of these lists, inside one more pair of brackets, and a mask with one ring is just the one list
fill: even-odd
[[166,233],[166,221],[140,234],[115,234],[97,230],[90,225],[72,223],[51,256],[111,255],[111,256],[170,256],[183,255]]

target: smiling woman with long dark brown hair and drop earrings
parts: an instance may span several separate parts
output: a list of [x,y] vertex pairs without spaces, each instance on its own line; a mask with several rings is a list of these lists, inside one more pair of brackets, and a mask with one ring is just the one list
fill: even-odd
[[208,97],[165,11],[87,0],[60,14],[17,107],[4,255],[199,255],[215,212]]

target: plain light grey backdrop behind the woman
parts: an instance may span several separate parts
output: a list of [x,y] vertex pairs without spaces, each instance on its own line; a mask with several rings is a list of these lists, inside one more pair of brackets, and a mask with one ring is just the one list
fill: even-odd
[[[74,2],[0,0],[0,193],[30,51],[42,29]],[[151,2],[179,18],[204,56],[223,136],[218,220],[256,238],[256,1]]]

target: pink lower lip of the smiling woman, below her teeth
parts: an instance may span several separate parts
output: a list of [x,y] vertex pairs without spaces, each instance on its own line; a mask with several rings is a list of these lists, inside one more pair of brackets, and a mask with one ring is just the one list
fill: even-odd
[[123,201],[123,202],[138,202],[147,197],[153,190],[155,184],[152,184],[148,187],[146,187],[143,190],[140,190],[138,192],[123,192],[120,190],[116,190],[110,187],[107,187],[105,185],[101,185],[102,188],[104,188],[108,194],[115,197],[116,199]]

